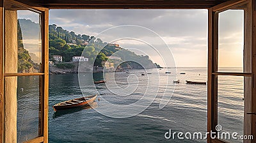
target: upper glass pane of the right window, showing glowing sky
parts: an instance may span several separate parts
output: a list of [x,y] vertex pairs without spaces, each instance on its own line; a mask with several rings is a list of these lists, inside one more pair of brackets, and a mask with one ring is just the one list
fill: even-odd
[[243,72],[244,10],[219,13],[218,72]]

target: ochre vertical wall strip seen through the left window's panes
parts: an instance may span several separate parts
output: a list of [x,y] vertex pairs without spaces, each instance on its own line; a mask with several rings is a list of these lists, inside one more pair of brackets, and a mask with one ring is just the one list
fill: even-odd
[[[4,10],[4,72],[18,70],[17,11]],[[17,77],[4,78],[4,142],[17,142]]]

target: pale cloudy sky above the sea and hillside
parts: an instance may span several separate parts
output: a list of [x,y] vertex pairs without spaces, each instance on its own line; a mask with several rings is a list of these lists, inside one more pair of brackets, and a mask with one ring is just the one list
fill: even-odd
[[[207,66],[207,10],[50,10],[49,24],[118,43],[161,66]],[[243,66],[243,11],[220,13],[219,25],[219,66]]]

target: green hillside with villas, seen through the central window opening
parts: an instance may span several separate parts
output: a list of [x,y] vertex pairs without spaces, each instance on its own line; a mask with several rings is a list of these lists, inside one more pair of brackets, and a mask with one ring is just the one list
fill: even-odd
[[[89,44],[88,44],[89,43]],[[101,50],[100,50],[101,49]],[[85,51],[83,53],[83,50]],[[117,52],[119,51],[120,52]],[[63,56],[63,61],[72,61],[73,56],[88,57],[93,66],[102,66],[102,61],[108,60],[108,56],[113,55],[121,57],[122,61],[127,61],[120,66],[123,68],[129,66],[131,68],[143,68],[140,64],[131,62],[138,61],[142,63],[145,68],[154,68],[157,64],[154,64],[148,56],[139,56],[130,50],[125,50],[119,45],[108,44],[100,38],[89,36],[86,34],[76,34],[73,31],[69,32],[62,27],[58,27],[55,24],[49,25],[49,58],[53,55]],[[95,59],[96,57],[96,59]],[[95,61],[93,63],[93,61]]]

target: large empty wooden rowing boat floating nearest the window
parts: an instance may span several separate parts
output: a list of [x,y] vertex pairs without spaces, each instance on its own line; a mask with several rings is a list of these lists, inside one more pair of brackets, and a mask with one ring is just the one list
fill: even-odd
[[75,107],[90,105],[90,103],[93,103],[96,98],[97,98],[97,95],[91,95],[91,96],[76,98],[74,100],[68,100],[68,101],[65,101],[65,102],[57,103],[57,104],[53,105],[52,107],[53,107],[54,111],[72,109],[72,108],[75,108]]

